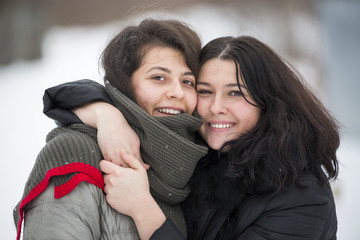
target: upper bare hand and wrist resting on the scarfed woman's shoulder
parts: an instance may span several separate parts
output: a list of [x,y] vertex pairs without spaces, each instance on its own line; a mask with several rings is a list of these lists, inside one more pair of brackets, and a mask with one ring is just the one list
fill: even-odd
[[85,124],[98,129],[98,143],[105,160],[128,167],[120,156],[120,150],[124,149],[149,169],[140,155],[139,137],[117,108],[105,102],[94,102],[73,111]]

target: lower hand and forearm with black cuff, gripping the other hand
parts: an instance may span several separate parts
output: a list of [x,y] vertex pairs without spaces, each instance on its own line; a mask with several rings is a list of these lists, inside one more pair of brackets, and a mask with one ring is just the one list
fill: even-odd
[[122,168],[107,161],[100,162],[101,170],[106,173],[105,193],[109,205],[133,218],[141,239],[184,240],[151,196],[145,168],[124,151],[121,157],[130,168]]

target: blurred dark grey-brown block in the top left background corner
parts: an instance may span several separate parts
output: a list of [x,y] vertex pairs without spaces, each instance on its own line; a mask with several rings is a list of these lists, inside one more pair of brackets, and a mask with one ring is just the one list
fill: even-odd
[[41,56],[41,40],[49,25],[47,4],[39,0],[0,3],[0,65]]

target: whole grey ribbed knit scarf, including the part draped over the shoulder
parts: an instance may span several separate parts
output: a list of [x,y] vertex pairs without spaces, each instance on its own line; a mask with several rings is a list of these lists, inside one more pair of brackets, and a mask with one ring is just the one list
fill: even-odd
[[[105,87],[115,107],[123,113],[140,138],[141,156],[151,166],[148,177],[152,195],[164,214],[186,234],[179,203],[190,192],[187,183],[197,161],[207,153],[207,147],[194,143],[201,120],[188,114],[152,117],[110,83],[105,82]],[[46,141],[25,185],[22,200],[43,181],[50,169],[80,162],[100,171],[98,163],[103,157],[97,145],[96,129],[84,124],[55,128]],[[51,179],[56,186],[60,186],[75,175],[70,173]],[[21,202],[14,209],[15,225],[19,222]]]

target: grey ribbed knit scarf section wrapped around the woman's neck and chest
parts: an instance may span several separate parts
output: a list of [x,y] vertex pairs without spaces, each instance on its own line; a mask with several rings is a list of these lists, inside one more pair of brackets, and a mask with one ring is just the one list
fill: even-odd
[[202,121],[189,114],[152,117],[109,82],[106,92],[141,142],[141,156],[150,164],[150,189],[164,214],[185,233],[185,222],[179,203],[190,193],[187,185],[197,161],[207,147],[195,144],[195,133]]

